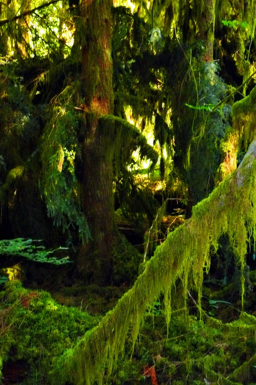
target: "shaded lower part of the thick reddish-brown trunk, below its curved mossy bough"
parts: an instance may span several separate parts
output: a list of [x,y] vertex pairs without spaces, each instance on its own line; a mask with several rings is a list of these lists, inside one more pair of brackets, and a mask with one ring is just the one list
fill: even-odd
[[83,144],[83,211],[91,239],[78,257],[83,278],[98,285],[111,281],[113,246],[117,236],[113,196],[113,137],[102,122],[88,119]]

